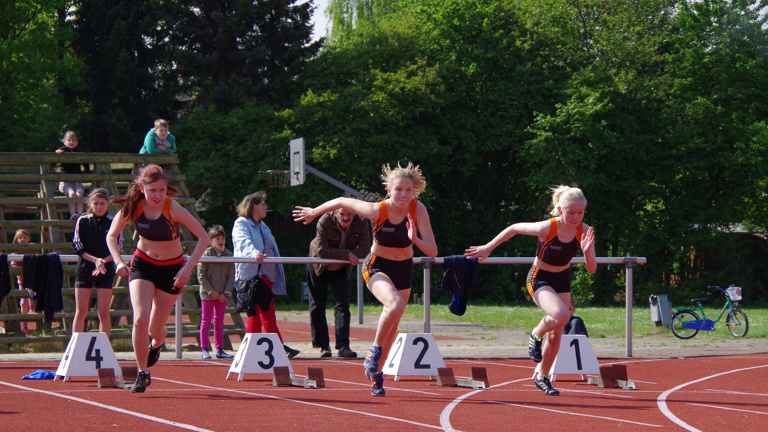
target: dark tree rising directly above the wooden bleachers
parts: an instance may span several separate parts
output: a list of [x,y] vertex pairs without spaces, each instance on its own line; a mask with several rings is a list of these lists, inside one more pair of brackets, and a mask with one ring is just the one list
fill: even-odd
[[76,0],[68,17],[87,86],[76,93],[90,151],[138,152],[156,118],[174,119],[178,77],[168,38],[174,2]]

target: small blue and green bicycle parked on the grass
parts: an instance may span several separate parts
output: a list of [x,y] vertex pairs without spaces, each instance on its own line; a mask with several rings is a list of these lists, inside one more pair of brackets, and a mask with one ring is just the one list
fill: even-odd
[[[707,299],[693,299],[692,302],[696,303],[696,307],[676,308],[670,312],[672,315],[672,322],[669,324],[672,333],[680,339],[690,339],[699,333],[699,330],[712,331],[715,329],[715,324],[720,321],[728,311],[728,316],[725,319],[728,331],[733,337],[744,337],[749,331],[749,320],[747,314],[739,309],[739,300],[741,300],[741,288],[731,285],[728,289],[722,289],[719,286],[708,287],[710,291],[719,290],[725,295],[725,306],[720,311],[720,315],[716,320],[708,319],[704,313],[704,307],[701,305]],[[699,315],[701,314],[701,319]]]

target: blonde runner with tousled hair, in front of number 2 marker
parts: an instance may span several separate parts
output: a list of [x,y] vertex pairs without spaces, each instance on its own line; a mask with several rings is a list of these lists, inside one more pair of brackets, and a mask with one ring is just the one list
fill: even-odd
[[[371,394],[384,396],[383,364],[397,337],[397,326],[411,295],[413,245],[434,258],[437,245],[424,204],[416,198],[424,192],[426,181],[418,166],[385,165],[382,180],[388,197],[379,203],[353,198],[336,198],[318,207],[296,206],[294,220],[308,224],[318,216],[343,208],[370,219],[374,223],[374,242],[363,264],[363,277],[368,289],[383,305],[376,337],[365,356],[365,375],[371,380]],[[419,237],[420,236],[420,237]]]

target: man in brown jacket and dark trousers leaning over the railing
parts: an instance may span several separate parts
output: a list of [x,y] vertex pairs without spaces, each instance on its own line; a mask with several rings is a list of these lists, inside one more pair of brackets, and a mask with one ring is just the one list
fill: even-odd
[[325,319],[329,283],[336,302],[334,318],[338,356],[357,357],[357,353],[349,348],[349,277],[352,268],[370,251],[371,227],[368,220],[343,209],[326,213],[318,220],[317,235],[309,245],[309,256],[350,262],[307,264],[312,346],[320,348],[320,357],[331,357],[328,323]]

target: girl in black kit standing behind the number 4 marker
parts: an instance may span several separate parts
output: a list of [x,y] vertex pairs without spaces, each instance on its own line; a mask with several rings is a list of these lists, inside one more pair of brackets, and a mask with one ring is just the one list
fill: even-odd
[[[85,314],[91,302],[91,289],[96,288],[99,331],[109,337],[112,329],[109,303],[115,278],[115,263],[107,247],[107,233],[113,219],[107,213],[109,194],[105,189],[94,189],[88,196],[88,203],[88,213],[77,219],[75,236],[72,238],[75,253],[80,256],[75,270],[75,318],[72,331],[85,331]],[[122,253],[122,234],[117,244]]]

